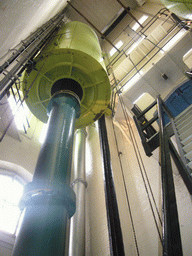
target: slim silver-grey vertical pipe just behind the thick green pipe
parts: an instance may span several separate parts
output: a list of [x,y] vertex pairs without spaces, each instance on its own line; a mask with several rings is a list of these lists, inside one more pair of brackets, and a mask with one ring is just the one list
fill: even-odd
[[72,188],[76,194],[76,213],[71,218],[69,256],[85,255],[85,128],[76,131]]

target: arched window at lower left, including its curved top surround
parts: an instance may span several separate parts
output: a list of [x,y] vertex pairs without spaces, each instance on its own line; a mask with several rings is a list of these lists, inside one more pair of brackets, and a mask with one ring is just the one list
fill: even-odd
[[7,235],[15,237],[21,215],[19,201],[25,184],[31,181],[32,174],[23,167],[0,161],[0,241],[6,241]]

